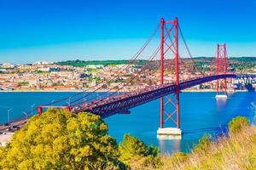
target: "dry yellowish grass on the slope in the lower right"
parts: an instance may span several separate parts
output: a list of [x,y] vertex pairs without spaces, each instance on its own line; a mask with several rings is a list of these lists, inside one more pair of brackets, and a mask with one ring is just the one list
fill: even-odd
[[[131,169],[155,169],[136,167]],[[239,133],[220,137],[216,142],[205,137],[190,154],[177,152],[162,156],[160,170],[256,169],[256,127],[247,126]]]

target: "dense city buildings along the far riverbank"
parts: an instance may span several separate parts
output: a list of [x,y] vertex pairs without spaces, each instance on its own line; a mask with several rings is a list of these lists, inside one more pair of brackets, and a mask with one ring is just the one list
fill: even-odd
[[[143,61],[147,62],[147,61]],[[189,61],[188,62],[189,65]],[[198,58],[195,62],[206,75],[214,74],[211,59]],[[77,64],[81,65],[77,65]],[[91,63],[91,62],[90,62]],[[129,64],[123,62],[95,62],[74,60],[67,62],[50,63],[38,61],[34,64],[14,65],[4,63],[0,65],[0,90],[1,91],[83,91],[101,88],[102,91],[134,91],[138,88],[147,88],[160,83],[160,68],[157,61],[150,63],[147,68],[142,62]],[[92,62],[93,63],[93,62]],[[241,68],[241,65],[246,66]],[[84,64],[84,65],[83,65]],[[256,72],[254,58],[230,59],[229,71],[236,73]],[[211,68],[212,67],[212,68]],[[167,66],[166,66],[167,68]],[[175,80],[174,69],[166,69],[165,82]],[[195,68],[180,68],[180,81],[201,77],[201,72]],[[243,90],[246,80],[229,80],[229,89]],[[248,80],[247,80],[248,81]],[[252,83],[253,84],[253,83]],[[254,85],[254,84],[253,84]],[[121,88],[120,88],[121,87]],[[208,82],[188,90],[213,90],[215,82]]]

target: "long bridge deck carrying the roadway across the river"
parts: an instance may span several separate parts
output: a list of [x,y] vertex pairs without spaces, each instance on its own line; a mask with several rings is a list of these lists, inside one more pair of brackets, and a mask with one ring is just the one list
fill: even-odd
[[[226,74],[226,75],[214,75],[208,77],[196,78],[194,80],[180,82],[179,89],[183,90],[186,88],[191,88],[193,86],[199,85],[205,82],[211,82],[223,78],[256,78],[256,75],[236,75],[236,74]],[[160,98],[160,96],[166,96],[168,94],[173,94],[176,90],[176,85],[164,84],[162,86],[156,86],[153,88],[146,88],[142,91],[136,93],[120,94],[107,99],[98,99],[93,102],[71,106],[71,111],[78,113],[81,111],[86,111],[94,113],[96,115],[102,116],[102,118],[112,116],[117,113],[129,113],[129,109],[136,107],[137,105],[143,105],[152,101],[154,99]],[[20,119],[15,122],[9,123],[8,126],[0,125],[0,133],[6,132],[11,126],[22,127],[26,123],[26,119]]]

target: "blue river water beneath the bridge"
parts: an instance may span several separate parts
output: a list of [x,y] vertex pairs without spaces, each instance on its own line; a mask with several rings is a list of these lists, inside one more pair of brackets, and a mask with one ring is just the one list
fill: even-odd
[[[71,96],[74,93],[0,93],[0,122],[7,122],[7,111],[13,109],[10,119],[22,116],[21,111],[30,111],[31,105],[44,104],[54,99]],[[182,139],[157,139],[156,130],[160,124],[160,101],[131,109],[130,115],[114,115],[105,119],[109,134],[122,140],[125,133],[131,133],[146,144],[155,144],[163,154],[175,150],[189,152],[205,133],[223,133],[234,116],[247,116],[253,120],[256,104],[255,93],[230,94],[227,100],[216,100],[215,93],[181,93],[180,111]],[[169,108],[170,110],[172,108]],[[34,111],[33,114],[36,114]]]

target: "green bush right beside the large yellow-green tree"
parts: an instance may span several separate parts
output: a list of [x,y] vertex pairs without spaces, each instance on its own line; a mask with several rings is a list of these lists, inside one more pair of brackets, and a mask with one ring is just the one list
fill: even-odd
[[129,166],[137,164],[157,167],[160,163],[160,151],[154,146],[147,146],[131,134],[125,134],[119,143],[120,161]]

